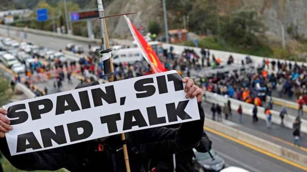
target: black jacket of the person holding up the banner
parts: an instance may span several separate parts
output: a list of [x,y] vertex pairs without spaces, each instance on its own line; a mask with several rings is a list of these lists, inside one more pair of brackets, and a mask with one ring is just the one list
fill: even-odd
[[[97,85],[83,84],[77,88]],[[185,122],[178,129],[156,127],[126,133],[130,168],[133,172],[149,171],[153,156],[174,154],[199,145],[204,126],[204,110],[198,103],[200,120]],[[191,134],[193,133],[193,134]],[[119,135],[111,136],[97,151],[99,139],[44,151],[11,156],[6,138],[0,139],[0,150],[10,163],[21,170],[125,171],[122,142]]]

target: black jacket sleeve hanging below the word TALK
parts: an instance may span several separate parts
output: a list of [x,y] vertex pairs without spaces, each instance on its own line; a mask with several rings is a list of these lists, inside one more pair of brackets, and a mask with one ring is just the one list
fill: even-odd
[[182,123],[180,128],[156,127],[136,131],[137,145],[143,155],[174,154],[200,144],[204,127],[204,110],[198,103],[200,120]]

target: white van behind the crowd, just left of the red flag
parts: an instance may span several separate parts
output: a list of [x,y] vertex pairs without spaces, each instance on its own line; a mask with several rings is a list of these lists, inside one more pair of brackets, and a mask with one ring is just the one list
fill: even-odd
[[113,63],[133,64],[143,60],[140,48],[123,48],[112,52]]

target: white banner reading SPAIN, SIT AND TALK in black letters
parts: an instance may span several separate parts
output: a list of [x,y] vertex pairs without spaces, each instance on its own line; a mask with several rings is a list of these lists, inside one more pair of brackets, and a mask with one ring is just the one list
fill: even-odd
[[200,119],[176,71],[10,103],[11,155]]

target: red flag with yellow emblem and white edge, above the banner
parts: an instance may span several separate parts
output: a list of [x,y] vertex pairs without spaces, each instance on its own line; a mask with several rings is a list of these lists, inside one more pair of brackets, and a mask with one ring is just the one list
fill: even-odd
[[141,49],[143,57],[150,64],[153,73],[167,71],[167,69],[165,69],[164,65],[161,63],[155,51],[147,43],[142,34],[138,31],[137,28],[135,28],[135,26],[131,23],[130,19],[126,15],[124,15],[124,17],[127,21],[127,24],[129,26],[130,32],[132,33],[134,40],[136,41],[138,47]]

